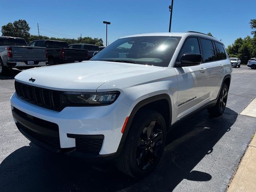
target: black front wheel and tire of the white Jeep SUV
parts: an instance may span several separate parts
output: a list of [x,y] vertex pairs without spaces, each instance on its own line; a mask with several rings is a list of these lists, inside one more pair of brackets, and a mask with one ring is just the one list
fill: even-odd
[[165,142],[166,123],[162,115],[154,110],[138,112],[116,159],[116,167],[134,178],[147,176],[156,168]]

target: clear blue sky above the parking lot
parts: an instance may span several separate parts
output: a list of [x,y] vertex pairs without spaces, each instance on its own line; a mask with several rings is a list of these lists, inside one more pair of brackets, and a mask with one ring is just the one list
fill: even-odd
[[[0,0],[0,26],[25,19],[30,33],[77,38],[90,36],[112,43],[121,36],[168,32],[171,0]],[[250,35],[250,19],[256,19],[255,0],[174,0],[172,32],[211,32],[225,46]]]

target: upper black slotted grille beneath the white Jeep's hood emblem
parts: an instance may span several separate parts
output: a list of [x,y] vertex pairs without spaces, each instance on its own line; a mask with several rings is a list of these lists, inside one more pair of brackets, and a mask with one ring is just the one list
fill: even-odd
[[30,86],[17,81],[14,84],[17,95],[27,102],[56,111],[63,109],[61,102],[62,92]]

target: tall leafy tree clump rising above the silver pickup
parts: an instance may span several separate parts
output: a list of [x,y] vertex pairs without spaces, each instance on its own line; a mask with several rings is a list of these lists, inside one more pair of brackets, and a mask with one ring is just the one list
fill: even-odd
[[28,40],[30,33],[30,27],[26,20],[19,19],[13,23],[8,23],[2,26],[2,36],[12,36],[12,37],[21,37],[25,40]]

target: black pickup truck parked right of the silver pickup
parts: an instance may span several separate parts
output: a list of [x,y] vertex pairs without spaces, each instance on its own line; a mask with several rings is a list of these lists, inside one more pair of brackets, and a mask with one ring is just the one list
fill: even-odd
[[68,48],[68,44],[54,40],[34,40],[28,46],[45,47],[48,52],[48,65],[74,63],[88,60],[88,51]]

